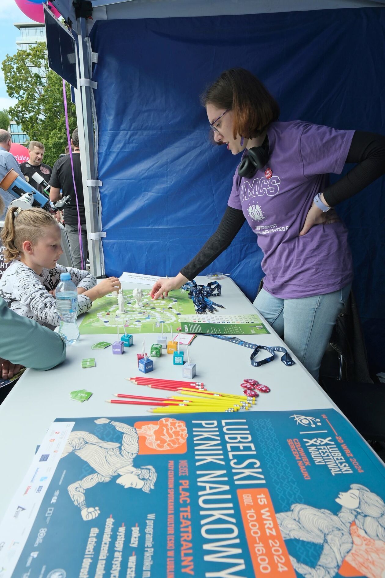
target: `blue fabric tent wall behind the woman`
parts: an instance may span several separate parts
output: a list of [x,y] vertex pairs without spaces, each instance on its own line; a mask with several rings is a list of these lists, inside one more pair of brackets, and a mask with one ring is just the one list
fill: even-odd
[[[99,20],[91,40],[107,275],[176,275],[215,231],[239,157],[212,146],[199,95],[223,70],[255,73],[281,120],[385,134],[382,9]],[[383,190],[382,178],[338,206],[374,371],[385,357]],[[206,271],[231,272],[252,300],[260,262],[245,224]]]

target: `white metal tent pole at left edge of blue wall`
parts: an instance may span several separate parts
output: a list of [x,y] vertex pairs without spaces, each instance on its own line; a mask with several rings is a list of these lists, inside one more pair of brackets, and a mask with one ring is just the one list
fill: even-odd
[[[80,86],[80,79],[89,79],[87,36],[85,18],[77,18],[77,38],[79,46],[79,68],[77,69],[77,90],[75,90],[76,118],[79,132],[81,177],[83,181],[85,225],[88,237],[88,253],[91,273],[96,277],[104,277],[104,259],[102,240],[90,239],[92,233],[99,233],[98,196],[95,186],[87,186],[87,181],[98,178],[95,169],[94,127],[92,124],[91,90],[90,86]],[[91,79],[90,79],[91,80]],[[85,255],[84,255],[85,257]]]

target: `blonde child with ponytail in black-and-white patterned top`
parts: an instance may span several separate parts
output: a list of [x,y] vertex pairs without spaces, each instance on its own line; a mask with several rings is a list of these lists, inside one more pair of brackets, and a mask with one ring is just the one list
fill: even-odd
[[117,277],[96,285],[88,271],[57,264],[63,253],[61,229],[55,217],[43,209],[10,208],[1,237],[4,260],[12,265],[0,279],[0,297],[14,312],[40,325],[54,328],[60,323],[54,295],[61,273],[70,273],[77,286],[79,314],[90,309],[95,299],[120,287]]

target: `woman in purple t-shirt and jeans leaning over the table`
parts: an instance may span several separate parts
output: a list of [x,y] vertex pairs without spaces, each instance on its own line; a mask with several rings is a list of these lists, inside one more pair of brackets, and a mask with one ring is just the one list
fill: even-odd
[[[254,305],[315,379],[353,280],[347,230],[334,207],[385,172],[385,139],[302,121],[281,123],[279,106],[244,69],[230,69],[205,92],[217,144],[242,151],[227,209],[214,235],[154,298],[180,288],[248,222],[263,251],[263,289]],[[358,163],[332,186],[329,173]]]

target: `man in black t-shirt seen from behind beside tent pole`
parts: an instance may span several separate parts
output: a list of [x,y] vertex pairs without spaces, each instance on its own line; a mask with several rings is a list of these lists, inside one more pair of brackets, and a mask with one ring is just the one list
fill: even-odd
[[[79,150],[79,135],[77,128],[72,133],[73,144],[73,172],[76,184],[77,201],[79,204],[79,217],[80,217],[80,227],[81,227],[81,243],[83,247],[83,266],[85,268],[85,260],[87,259],[87,230],[85,228],[85,212],[84,212],[84,196],[83,196],[83,181],[81,179],[81,166],[80,166],[80,150]],[[73,186],[72,179],[72,168],[71,168],[71,158],[67,154],[64,157],[58,158],[52,169],[52,175],[50,179],[50,201],[57,202],[62,197],[70,195],[70,203],[64,209],[64,222],[65,230],[68,235],[69,246],[73,258],[74,267],[81,269],[81,258],[80,258],[80,243],[79,243],[79,230],[77,223],[77,208],[76,208],[76,196]],[[60,190],[62,190],[62,195]]]

